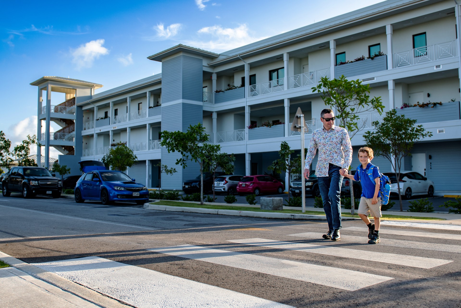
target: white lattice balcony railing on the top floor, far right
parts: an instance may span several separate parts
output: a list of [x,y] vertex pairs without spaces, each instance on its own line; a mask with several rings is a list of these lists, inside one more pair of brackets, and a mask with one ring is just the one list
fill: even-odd
[[458,56],[456,40],[394,53],[394,68],[449,59]]

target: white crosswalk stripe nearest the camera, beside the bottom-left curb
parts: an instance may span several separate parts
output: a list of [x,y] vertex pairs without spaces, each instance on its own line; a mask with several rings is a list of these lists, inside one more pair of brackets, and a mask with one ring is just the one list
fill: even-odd
[[35,263],[137,308],[288,308],[291,306],[99,257]]

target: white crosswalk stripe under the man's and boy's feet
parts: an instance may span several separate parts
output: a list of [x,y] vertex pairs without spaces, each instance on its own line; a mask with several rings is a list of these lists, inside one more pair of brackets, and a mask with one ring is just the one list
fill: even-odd
[[[363,231],[363,228],[362,228],[362,231]],[[381,231],[379,231],[379,233],[381,233]],[[316,233],[316,232],[289,234],[289,236],[292,236],[292,237],[307,237],[307,238],[315,238],[315,239],[321,239],[322,235],[323,233]],[[365,236],[361,236],[361,237],[341,234],[341,241],[367,243],[368,242],[367,235],[368,235],[368,230],[366,231]],[[394,239],[389,239],[389,238],[381,238],[381,241],[379,242],[378,245],[461,253],[461,246],[458,246],[458,245],[402,241],[402,240],[394,240]]]

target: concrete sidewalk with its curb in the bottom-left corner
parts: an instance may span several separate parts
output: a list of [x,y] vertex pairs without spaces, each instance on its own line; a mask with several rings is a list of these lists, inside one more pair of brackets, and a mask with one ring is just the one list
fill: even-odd
[[110,297],[0,251],[0,308],[128,308]]

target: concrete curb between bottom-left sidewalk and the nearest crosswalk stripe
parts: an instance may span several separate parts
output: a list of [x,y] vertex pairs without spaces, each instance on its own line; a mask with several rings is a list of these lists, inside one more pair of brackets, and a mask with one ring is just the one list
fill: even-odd
[[56,275],[53,272],[47,272],[42,270],[39,267],[35,267],[7,255],[0,251],[0,260],[9,264],[12,267],[17,268],[20,271],[26,272],[29,275],[38,278],[40,280],[46,281],[49,284],[53,284],[61,290],[67,291],[73,295],[83,298],[84,300],[91,302],[95,305],[98,305],[103,308],[129,308],[133,307],[131,305],[125,305],[112,297],[106,296],[104,294],[98,293],[94,290],[91,290],[83,285],[77,284],[73,281],[62,278],[61,276]]

